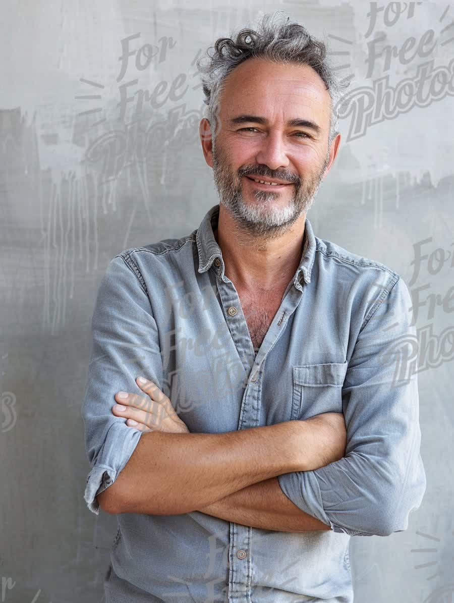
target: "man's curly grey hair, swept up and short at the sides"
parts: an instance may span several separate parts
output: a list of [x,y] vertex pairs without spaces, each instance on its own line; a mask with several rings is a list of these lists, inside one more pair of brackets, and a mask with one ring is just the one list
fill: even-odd
[[[280,24],[280,17],[286,22]],[[205,95],[204,103],[208,106],[207,119],[210,122],[213,139],[218,131],[216,115],[219,110],[219,98],[225,89],[226,78],[230,72],[251,57],[263,57],[275,63],[288,65],[298,63],[309,65],[324,81],[331,97],[331,119],[329,145],[338,134],[339,100],[350,86],[350,78],[339,80],[335,69],[326,59],[327,46],[324,42],[311,36],[303,25],[289,23],[284,11],[278,10],[265,14],[257,27],[257,31],[242,29],[236,39],[219,38],[214,46],[207,50],[209,62],[203,65],[206,57],[197,60],[197,68],[201,72],[201,82]],[[215,54],[210,55],[210,48]]]

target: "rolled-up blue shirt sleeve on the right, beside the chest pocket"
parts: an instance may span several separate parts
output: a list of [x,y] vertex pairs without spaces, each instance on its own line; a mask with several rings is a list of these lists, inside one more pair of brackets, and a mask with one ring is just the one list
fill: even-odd
[[283,493],[297,507],[335,532],[401,532],[423,499],[411,306],[399,277],[362,324],[342,387],[344,458],[314,471],[278,476]]

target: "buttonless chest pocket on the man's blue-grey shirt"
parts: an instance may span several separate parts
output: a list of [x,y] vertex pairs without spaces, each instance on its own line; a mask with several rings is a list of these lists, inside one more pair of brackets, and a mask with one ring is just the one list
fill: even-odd
[[322,412],[342,412],[347,365],[345,361],[294,366],[291,420],[304,420]]

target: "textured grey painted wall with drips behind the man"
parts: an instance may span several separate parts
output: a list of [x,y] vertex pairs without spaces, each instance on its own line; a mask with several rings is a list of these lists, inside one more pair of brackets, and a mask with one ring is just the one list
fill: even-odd
[[[355,601],[452,601],[454,6],[379,3],[374,20],[374,4],[1,1],[1,601],[101,601],[116,519],[83,500],[80,414],[98,283],[116,253],[186,235],[218,203],[195,58],[278,8],[354,76],[315,234],[393,268],[417,300],[426,495],[408,531],[352,538]],[[406,79],[384,107],[380,81]],[[139,90],[142,107],[122,104]]]

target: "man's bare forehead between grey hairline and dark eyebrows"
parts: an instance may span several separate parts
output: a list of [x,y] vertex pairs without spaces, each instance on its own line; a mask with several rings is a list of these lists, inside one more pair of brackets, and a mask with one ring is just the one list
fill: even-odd
[[238,111],[263,116],[329,119],[331,97],[309,65],[280,65],[250,58],[230,72],[221,95],[224,117]]

